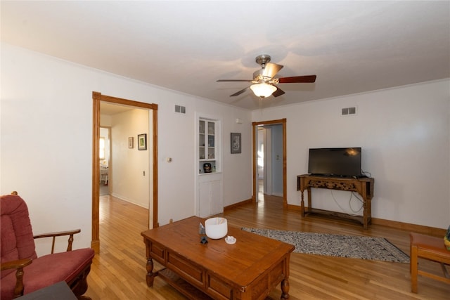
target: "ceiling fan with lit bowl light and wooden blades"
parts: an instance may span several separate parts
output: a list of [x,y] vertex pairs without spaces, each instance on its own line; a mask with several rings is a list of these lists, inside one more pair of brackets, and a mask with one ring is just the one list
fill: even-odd
[[275,84],[298,84],[298,83],[313,83],[316,81],[316,75],[307,76],[294,76],[294,77],[281,77],[274,78],[276,73],[278,73],[283,65],[277,65],[276,63],[270,63],[270,56],[267,54],[262,54],[256,57],[256,63],[261,65],[261,70],[257,70],[253,73],[252,80],[246,79],[219,79],[217,82],[224,81],[245,81],[252,82],[252,85],[241,89],[240,91],[233,93],[230,97],[238,96],[241,93],[251,89],[256,96],[260,99],[267,98],[271,95],[278,97],[285,93]]

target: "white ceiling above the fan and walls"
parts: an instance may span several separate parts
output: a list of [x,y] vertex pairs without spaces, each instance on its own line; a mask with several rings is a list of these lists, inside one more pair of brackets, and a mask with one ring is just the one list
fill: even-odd
[[1,41],[167,89],[257,109],[450,77],[450,1],[1,1]]

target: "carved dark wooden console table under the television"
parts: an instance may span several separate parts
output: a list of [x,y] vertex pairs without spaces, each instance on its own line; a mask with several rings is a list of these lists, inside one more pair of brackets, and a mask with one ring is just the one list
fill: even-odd
[[[363,224],[364,229],[368,228],[371,223],[372,210],[371,200],[373,198],[373,178],[340,178],[328,176],[311,176],[309,174],[297,176],[297,190],[302,192],[302,216],[308,214],[328,214],[330,216],[338,216],[346,219],[359,221]],[[311,206],[311,188],[328,188],[331,190],[347,190],[349,192],[356,192],[361,195],[363,200],[363,215],[352,216],[335,211],[326,211],[323,209],[313,209]],[[308,191],[308,207],[305,209],[303,192]]]

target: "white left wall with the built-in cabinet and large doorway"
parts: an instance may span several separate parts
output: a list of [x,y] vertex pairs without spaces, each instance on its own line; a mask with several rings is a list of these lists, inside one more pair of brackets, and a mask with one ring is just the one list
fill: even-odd
[[[224,203],[252,196],[251,113],[176,91],[1,44],[0,194],[18,190],[35,233],[81,228],[75,248],[91,242],[92,91],[158,104],[158,221],[192,216],[194,114],[223,122]],[[174,105],[186,106],[186,115]],[[236,118],[243,120],[236,124]],[[243,152],[229,152],[230,132],[243,133]],[[228,150],[227,150],[228,149]],[[166,162],[172,157],[172,162]],[[62,244],[62,243],[61,243]],[[61,246],[63,247],[63,246]],[[37,245],[38,254],[44,251]]]

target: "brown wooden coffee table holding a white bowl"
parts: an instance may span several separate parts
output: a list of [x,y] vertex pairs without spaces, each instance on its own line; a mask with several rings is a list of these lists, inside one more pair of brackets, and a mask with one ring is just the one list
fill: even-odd
[[[281,299],[289,298],[289,260],[294,246],[228,226],[236,244],[208,239],[200,243],[199,224],[188,219],[143,231],[148,287],[155,276],[190,299],[264,299],[281,282]],[[153,259],[165,266],[153,270]]]

